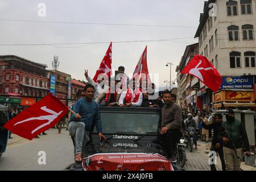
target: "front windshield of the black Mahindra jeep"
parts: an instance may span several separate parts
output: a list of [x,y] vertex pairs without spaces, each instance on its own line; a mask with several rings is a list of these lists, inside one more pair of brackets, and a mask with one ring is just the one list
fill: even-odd
[[159,113],[145,113],[139,110],[136,112],[122,112],[122,109],[111,112],[101,111],[102,133],[157,133],[159,118]]

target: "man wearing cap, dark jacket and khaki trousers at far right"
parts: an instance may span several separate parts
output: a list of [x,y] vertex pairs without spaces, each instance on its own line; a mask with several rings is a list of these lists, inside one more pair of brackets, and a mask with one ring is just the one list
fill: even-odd
[[[234,111],[228,109],[224,115],[226,121],[222,122],[218,138],[223,141],[226,169],[228,171],[239,171],[243,149],[245,148],[247,156],[250,155],[249,140],[245,126],[234,117]],[[225,133],[228,133],[229,136]]]

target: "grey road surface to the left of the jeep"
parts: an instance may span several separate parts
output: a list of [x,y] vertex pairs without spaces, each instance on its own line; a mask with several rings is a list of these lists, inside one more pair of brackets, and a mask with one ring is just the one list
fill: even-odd
[[[68,131],[57,134],[56,129],[46,131],[39,139],[24,140],[6,149],[0,158],[2,170],[63,170],[73,163],[73,143]],[[39,151],[46,152],[46,165],[38,164]]]

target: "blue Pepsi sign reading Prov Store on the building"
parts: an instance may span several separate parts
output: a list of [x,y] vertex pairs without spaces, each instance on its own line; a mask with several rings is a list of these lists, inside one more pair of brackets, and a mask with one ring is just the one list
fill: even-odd
[[221,89],[253,89],[253,76],[222,77]]

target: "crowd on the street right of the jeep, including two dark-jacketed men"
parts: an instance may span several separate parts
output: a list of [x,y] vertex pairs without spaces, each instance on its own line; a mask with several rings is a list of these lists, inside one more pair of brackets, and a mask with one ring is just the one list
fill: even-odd
[[[210,115],[212,115],[211,118]],[[211,140],[210,151],[214,151],[220,156],[222,171],[239,171],[243,152],[245,151],[247,156],[250,155],[245,125],[235,118],[232,109],[226,110],[224,115],[226,117],[225,122],[222,121],[223,115],[221,113],[212,114],[212,111],[209,113],[205,111],[184,112],[183,130],[193,127],[198,132],[193,138],[196,150],[197,136],[200,135],[203,142]],[[210,169],[216,171],[214,162],[210,163]]]

